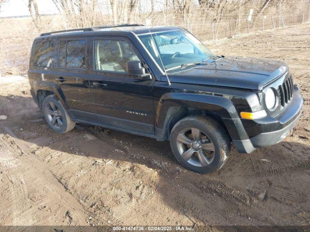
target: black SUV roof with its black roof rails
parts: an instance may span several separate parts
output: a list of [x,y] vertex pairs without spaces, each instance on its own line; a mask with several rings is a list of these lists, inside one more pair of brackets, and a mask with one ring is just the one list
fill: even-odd
[[[114,32],[114,33],[135,33],[139,34],[147,34],[150,32],[161,32],[167,30],[175,30],[179,29],[179,27],[161,27],[161,26],[144,26],[141,24],[122,24],[122,25],[108,25],[108,26],[100,26],[93,28],[80,28],[80,29],[70,29],[70,30],[59,30],[53,32],[42,33],[40,37],[43,36],[84,36],[84,35],[93,35],[98,34],[99,32]],[[102,33],[99,33],[102,34]]]

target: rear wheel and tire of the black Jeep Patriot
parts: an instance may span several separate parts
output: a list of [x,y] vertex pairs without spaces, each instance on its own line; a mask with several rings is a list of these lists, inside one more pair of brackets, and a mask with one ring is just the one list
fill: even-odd
[[[76,126],[76,123],[72,121],[62,103],[54,94],[47,96],[43,100],[42,111],[47,125],[57,133],[62,134],[71,131]],[[54,118],[56,118],[55,121],[53,120]]]

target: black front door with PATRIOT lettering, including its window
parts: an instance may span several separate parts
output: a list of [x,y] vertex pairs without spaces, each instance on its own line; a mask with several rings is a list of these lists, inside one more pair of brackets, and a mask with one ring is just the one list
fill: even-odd
[[154,135],[154,80],[130,76],[129,60],[142,60],[124,37],[94,38],[90,86],[99,124],[141,135]]

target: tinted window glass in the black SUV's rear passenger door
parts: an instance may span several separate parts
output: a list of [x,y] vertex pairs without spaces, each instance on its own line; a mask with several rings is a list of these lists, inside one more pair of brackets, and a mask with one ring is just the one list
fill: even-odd
[[59,66],[85,69],[86,40],[61,41],[59,45]]

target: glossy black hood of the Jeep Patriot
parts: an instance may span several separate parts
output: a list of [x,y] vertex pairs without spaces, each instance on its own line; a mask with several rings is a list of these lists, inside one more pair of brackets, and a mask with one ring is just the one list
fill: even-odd
[[288,71],[285,62],[250,57],[224,57],[206,65],[187,66],[168,74],[171,82],[262,90]]

